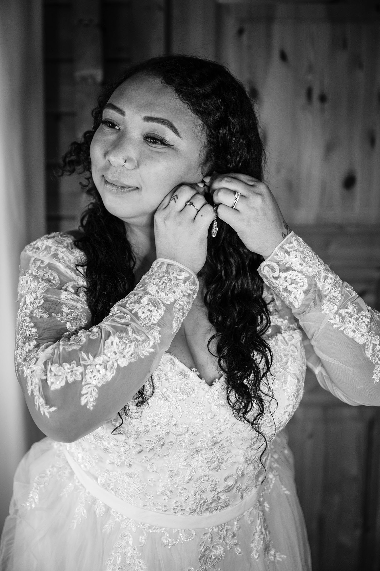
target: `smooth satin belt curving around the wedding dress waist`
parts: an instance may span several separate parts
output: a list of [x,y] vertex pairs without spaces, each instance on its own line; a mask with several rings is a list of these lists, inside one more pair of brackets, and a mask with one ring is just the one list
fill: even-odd
[[175,516],[170,513],[154,512],[150,509],[138,508],[136,505],[129,504],[128,501],[121,500],[88,476],[66,450],[64,450],[64,454],[76,477],[92,496],[95,496],[98,500],[110,508],[115,509],[123,516],[129,517],[142,524],[157,525],[173,529],[212,528],[214,525],[220,525],[227,521],[234,520],[252,508],[258,498],[260,490],[260,488],[256,489],[256,492],[250,494],[250,496],[247,496],[238,504],[223,509],[220,512],[206,513],[203,516]]

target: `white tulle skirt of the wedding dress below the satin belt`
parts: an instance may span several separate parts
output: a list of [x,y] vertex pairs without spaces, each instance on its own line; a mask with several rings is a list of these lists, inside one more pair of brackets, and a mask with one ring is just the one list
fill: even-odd
[[309,571],[292,455],[276,437],[273,465],[252,508],[203,529],[141,523],[80,483],[60,443],[21,460],[0,548],[1,571]]

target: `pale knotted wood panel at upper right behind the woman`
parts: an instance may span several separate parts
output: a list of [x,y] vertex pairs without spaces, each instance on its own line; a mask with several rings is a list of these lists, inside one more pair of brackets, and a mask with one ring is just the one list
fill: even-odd
[[380,25],[332,23],[323,5],[316,22],[293,5],[258,21],[257,8],[218,7],[216,56],[260,104],[267,182],[285,218],[377,223]]

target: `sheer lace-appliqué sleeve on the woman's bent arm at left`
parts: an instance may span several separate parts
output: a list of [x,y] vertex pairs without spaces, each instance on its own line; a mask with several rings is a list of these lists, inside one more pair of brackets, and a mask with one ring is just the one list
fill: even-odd
[[77,291],[85,286],[75,268],[81,255],[71,236],[59,233],[43,236],[22,252],[15,367],[42,415],[75,407],[77,400],[82,416],[83,408],[103,411],[95,421],[100,425],[157,368],[199,283],[181,264],[155,260],[136,288],[101,323],[89,327],[85,295],[83,289]]

